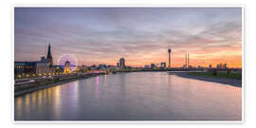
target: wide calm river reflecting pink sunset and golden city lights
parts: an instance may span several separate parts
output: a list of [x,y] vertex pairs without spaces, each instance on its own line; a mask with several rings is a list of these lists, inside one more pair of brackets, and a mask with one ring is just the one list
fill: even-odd
[[93,77],[14,99],[15,120],[241,120],[242,88],[166,72]]

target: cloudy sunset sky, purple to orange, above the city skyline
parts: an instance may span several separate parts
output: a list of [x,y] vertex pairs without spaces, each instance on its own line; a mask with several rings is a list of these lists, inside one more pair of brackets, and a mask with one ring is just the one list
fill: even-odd
[[15,8],[14,60],[39,61],[50,40],[54,64],[227,63],[242,66],[241,8]]

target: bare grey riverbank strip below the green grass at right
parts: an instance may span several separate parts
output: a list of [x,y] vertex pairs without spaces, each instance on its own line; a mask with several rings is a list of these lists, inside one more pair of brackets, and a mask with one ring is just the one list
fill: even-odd
[[231,85],[231,86],[242,87],[242,80],[192,76],[192,75],[186,74],[185,72],[172,72],[172,75],[176,75],[176,76],[182,77],[182,78],[205,81],[205,82],[217,82],[217,83],[228,84],[228,85]]

